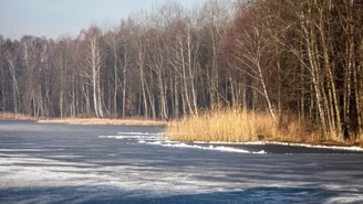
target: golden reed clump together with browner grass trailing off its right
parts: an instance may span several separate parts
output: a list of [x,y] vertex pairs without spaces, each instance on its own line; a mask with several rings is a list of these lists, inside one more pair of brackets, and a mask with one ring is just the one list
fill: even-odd
[[300,142],[313,138],[310,135],[301,137],[307,133],[304,127],[291,118],[282,125],[279,127],[268,114],[227,109],[205,112],[198,118],[172,121],[167,125],[166,132],[170,140],[206,142],[246,142],[261,138]]

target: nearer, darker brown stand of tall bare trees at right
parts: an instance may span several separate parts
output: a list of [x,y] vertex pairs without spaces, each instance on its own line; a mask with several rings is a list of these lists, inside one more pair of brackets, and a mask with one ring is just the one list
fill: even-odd
[[298,116],[324,140],[362,136],[362,1],[249,1],[221,46],[235,104],[246,98],[281,126],[283,116]]

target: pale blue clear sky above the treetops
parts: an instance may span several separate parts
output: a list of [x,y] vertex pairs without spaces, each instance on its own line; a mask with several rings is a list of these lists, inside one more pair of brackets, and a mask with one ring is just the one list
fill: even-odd
[[[58,39],[76,36],[91,24],[118,24],[122,18],[167,0],[0,0],[0,35],[25,34]],[[205,0],[176,0],[191,8]]]

